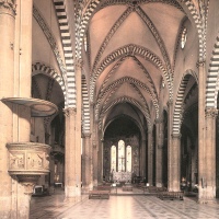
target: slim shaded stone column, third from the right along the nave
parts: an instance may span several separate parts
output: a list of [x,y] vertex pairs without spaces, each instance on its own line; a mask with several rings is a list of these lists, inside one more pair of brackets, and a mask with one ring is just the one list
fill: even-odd
[[163,120],[157,119],[155,120],[155,128],[157,128],[157,152],[155,152],[155,186],[162,187],[163,185]]

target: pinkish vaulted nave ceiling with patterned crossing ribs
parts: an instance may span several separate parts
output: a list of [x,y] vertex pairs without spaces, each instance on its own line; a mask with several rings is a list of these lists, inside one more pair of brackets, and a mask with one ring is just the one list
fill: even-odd
[[161,89],[172,92],[186,20],[176,1],[128,2],[101,1],[87,33],[90,95],[105,125],[123,114],[142,126],[141,116],[148,125],[159,117]]

